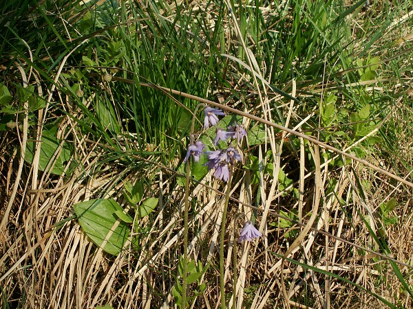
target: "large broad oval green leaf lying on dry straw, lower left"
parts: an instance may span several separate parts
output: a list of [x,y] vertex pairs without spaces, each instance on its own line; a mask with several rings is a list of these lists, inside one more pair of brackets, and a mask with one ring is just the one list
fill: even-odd
[[[127,223],[118,220],[115,215],[116,211],[123,212],[123,209],[110,198],[98,198],[74,205],[79,225],[98,247],[102,247],[103,240],[109,232],[112,233],[103,247],[105,252],[112,255],[120,253],[130,233]],[[116,222],[118,222],[118,226],[114,229]]]

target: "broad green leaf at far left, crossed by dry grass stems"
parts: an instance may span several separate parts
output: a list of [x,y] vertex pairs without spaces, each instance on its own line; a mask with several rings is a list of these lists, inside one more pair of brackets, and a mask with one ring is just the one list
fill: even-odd
[[[52,128],[52,130],[43,130],[43,135],[41,137],[39,170],[45,171],[49,162],[53,160],[54,166],[51,173],[61,175],[66,168],[67,162],[70,161],[72,157],[72,149],[69,144],[65,142],[62,143],[61,140],[56,138],[56,135],[54,135],[53,132],[54,129],[56,129],[56,127]],[[24,159],[29,164],[33,163],[35,147],[35,141],[27,144]],[[55,152],[60,152],[57,157],[55,157]]]

